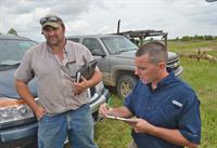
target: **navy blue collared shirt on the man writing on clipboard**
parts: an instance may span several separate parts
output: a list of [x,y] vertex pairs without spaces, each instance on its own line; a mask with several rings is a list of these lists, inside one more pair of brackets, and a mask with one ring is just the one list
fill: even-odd
[[[174,72],[158,82],[155,90],[151,84],[139,81],[124,105],[137,118],[156,126],[179,130],[194,144],[201,142],[200,102],[194,91]],[[139,148],[183,148],[156,136],[135,133],[133,130],[132,137]]]

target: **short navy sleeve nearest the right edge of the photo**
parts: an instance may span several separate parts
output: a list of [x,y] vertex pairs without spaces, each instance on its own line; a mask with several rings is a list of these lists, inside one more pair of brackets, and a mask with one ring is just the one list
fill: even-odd
[[179,132],[190,142],[194,144],[201,143],[201,117],[200,117],[200,102],[194,95],[191,98],[182,117],[179,121]]

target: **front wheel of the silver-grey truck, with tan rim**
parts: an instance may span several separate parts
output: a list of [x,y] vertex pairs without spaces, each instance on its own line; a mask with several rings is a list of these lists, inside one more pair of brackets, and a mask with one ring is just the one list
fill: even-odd
[[123,75],[117,80],[117,95],[125,98],[137,84],[137,77],[131,75]]

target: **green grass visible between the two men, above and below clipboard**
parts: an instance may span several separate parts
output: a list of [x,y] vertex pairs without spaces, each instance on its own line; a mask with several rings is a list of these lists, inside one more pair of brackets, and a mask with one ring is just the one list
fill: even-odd
[[[112,106],[120,106],[122,99],[116,95],[112,96]],[[95,125],[95,142],[100,148],[120,148],[127,147],[130,137],[129,125],[122,121],[105,119]]]

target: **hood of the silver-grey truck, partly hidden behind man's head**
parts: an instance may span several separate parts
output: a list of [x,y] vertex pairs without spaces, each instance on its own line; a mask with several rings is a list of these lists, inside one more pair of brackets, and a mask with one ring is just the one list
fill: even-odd
[[[117,55],[114,55],[114,56],[118,57],[118,58],[131,58],[131,59],[133,59],[135,53],[136,53],[136,50],[129,51],[129,52],[122,52],[120,54],[117,54]],[[177,57],[178,57],[178,55],[176,53],[168,52],[168,60],[173,60]]]

